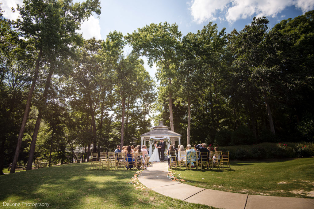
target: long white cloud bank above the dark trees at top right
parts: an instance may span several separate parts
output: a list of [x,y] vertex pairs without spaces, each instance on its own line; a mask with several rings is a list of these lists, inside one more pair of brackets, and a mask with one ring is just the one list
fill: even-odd
[[190,11],[198,24],[216,19],[232,23],[253,15],[276,17],[293,5],[305,13],[314,8],[314,0],[192,0]]

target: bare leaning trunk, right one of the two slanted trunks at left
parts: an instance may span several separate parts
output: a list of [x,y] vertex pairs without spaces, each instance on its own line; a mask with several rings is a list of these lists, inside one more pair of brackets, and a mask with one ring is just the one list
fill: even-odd
[[29,154],[29,157],[27,160],[26,170],[32,169],[32,162],[33,162],[34,155],[35,155],[35,145],[36,145],[37,135],[38,135],[41,119],[42,119],[42,111],[43,111],[43,108],[45,108],[45,106],[46,106],[46,100],[47,100],[47,95],[48,95],[48,90],[49,90],[53,70],[54,70],[54,65],[51,64],[50,70],[49,70],[49,73],[47,76],[47,80],[46,80],[45,90],[44,90],[43,97],[41,100],[41,106],[39,107],[39,110],[38,110],[38,116],[37,116],[37,120],[35,123],[35,129],[34,129],[32,141],[30,143],[30,154]]

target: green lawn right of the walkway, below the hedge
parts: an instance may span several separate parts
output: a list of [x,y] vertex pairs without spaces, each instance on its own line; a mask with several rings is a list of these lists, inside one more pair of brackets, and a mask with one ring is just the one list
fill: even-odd
[[[184,183],[236,193],[314,197],[314,158],[231,161],[231,170],[172,169]],[[179,177],[181,176],[181,178]]]

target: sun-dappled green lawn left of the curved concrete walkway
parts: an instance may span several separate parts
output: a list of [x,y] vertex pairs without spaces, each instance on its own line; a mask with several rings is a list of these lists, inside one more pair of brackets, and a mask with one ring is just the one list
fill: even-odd
[[[67,164],[0,176],[0,202],[49,203],[51,208],[208,208],[174,200],[130,182],[135,170],[90,170]],[[34,208],[34,207],[21,207]]]

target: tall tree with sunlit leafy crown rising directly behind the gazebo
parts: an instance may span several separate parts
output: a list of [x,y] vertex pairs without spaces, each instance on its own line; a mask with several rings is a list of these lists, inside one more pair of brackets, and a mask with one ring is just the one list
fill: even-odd
[[170,128],[174,131],[172,112],[172,83],[171,79],[178,68],[178,49],[181,32],[177,24],[150,24],[138,28],[138,32],[127,34],[125,39],[133,46],[133,51],[139,55],[147,56],[149,66],[155,63],[158,67],[158,79],[166,86],[169,97]]

